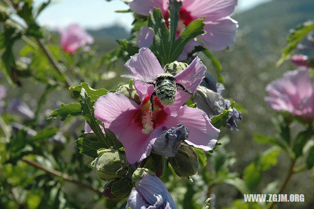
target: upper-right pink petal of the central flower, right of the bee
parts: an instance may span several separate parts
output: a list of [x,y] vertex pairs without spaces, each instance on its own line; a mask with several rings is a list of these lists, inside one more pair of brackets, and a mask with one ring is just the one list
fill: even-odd
[[[198,57],[196,57],[191,62],[191,64],[187,66],[187,68],[185,68],[183,71],[175,76],[176,83],[182,84],[186,89],[195,92],[197,87],[200,85],[203,78],[205,77],[205,72],[206,66]],[[190,94],[182,90],[178,90],[174,104],[171,106],[166,106],[164,108],[164,111],[171,116],[177,116],[177,111],[190,97]]]

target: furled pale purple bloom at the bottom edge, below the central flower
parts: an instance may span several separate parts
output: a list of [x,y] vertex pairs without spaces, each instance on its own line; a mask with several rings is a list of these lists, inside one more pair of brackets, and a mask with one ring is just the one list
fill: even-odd
[[131,190],[126,209],[177,209],[163,182],[156,176],[145,173]]

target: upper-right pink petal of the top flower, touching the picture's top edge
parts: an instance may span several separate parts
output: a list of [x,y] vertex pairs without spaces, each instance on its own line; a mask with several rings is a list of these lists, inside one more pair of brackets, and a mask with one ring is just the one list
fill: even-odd
[[195,19],[215,21],[233,13],[237,0],[183,0],[183,7],[191,12]]

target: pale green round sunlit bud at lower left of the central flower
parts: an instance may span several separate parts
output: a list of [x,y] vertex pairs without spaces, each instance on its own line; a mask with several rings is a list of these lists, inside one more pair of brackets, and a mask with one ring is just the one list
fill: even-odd
[[126,156],[115,149],[100,149],[99,156],[92,162],[98,177],[103,180],[120,178],[128,172]]

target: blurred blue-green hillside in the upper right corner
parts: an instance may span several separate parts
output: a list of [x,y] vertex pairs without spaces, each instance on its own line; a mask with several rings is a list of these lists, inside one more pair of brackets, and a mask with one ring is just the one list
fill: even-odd
[[234,19],[239,22],[239,29],[247,32],[249,41],[286,37],[289,29],[314,19],[314,0],[272,0],[237,14]]

